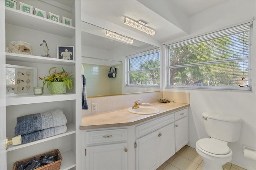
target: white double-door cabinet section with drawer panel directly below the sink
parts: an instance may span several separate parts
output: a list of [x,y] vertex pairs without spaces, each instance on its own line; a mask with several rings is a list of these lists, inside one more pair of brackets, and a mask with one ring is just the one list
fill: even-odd
[[173,122],[170,114],[136,127],[136,170],[156,169],[175,153]]

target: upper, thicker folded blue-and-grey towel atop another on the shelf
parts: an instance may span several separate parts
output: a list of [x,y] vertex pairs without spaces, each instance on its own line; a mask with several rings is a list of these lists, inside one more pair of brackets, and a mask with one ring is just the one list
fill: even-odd
[[15,136],[28,134],[38,130],[66,125],[67,119],[62,109],[17,117]]

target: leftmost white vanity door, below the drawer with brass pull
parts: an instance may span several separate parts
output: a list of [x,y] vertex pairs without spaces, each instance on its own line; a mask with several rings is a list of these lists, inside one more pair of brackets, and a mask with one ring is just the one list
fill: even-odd
[[126,170],[127,143],[90,146],[86,148],[87,170]]

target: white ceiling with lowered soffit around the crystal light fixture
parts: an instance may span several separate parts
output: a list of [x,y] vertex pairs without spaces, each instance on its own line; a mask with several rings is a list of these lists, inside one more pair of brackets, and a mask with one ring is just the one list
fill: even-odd
[[[81,19],[132,38],[162,43],[190,34],[190,17],[228,0],[81,0]],[[156,34],[150,36],[124,24],[142,20]]]

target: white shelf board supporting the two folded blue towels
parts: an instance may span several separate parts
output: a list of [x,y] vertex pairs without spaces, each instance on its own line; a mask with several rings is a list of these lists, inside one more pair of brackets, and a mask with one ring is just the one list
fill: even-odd
[[33,144],[42,143],[42,142],[45,142],[45,141],[48,141],[48,140],[52,140],[52,139],[60,138],[62,136],[67,136],[67,135],[76,133],[76,127],[75,127],[75,125],[73,123],[67,123],[66,126],[67,126],[67,131],[65,133],[57,134],[55,136],[51,136],[51,137],[48,137],[48,138],[36,140],[34,142],[29,142],[29,143],[26,143],[26,144],[20,144],[20,145],[14,145],[14,146],[13,145],[9,145],[8,149],[6,151],[10,152],[12,150],[24,148],[26,146],[31,146]]

